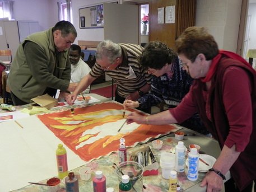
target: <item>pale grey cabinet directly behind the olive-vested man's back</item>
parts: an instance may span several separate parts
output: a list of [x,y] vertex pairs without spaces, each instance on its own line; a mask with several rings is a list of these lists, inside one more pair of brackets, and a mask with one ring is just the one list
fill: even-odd
[[20,43],[30,34],[39,31],[38,21],[18,21]]

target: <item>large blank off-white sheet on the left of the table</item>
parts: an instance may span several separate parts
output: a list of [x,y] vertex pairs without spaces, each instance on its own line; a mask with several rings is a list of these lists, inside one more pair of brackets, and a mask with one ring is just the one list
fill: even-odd
[[[0,191],[11,191],[57,176],[55,151],[62,143],[36,116],[1,123]],[[67,146],[68,170],[85,165]],[[24,176],[25,173],[25,176]],[[15,182],[13,182],[15,181]]]

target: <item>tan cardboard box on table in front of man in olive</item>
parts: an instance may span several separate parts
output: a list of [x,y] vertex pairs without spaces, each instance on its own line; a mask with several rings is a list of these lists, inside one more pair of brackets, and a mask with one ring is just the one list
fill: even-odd
[[47,109],[51,109],[52,107],[58,106],[58,100],[49,96],[48,94],[37,96],[31,99],[31,102],[35,102],[41,107],[46,107]]

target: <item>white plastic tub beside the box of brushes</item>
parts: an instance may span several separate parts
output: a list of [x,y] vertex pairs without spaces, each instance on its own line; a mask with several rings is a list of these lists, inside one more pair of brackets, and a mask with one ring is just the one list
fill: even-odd
[[162,177],[164,179],[170,179],[171,171],[175,170],[175,154],[161,153],[160,167],[162,168]]

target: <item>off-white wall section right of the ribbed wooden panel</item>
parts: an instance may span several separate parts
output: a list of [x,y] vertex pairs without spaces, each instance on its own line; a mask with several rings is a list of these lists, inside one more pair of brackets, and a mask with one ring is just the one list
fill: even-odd
[[196,26],[207,27],[219,49],[236,52],[242,0],[197,0]]

